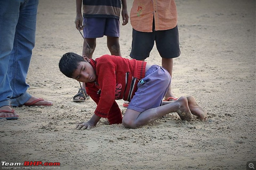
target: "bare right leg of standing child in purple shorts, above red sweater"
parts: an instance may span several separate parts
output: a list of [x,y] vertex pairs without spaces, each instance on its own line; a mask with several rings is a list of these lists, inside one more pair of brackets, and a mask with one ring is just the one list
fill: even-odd
[[119,44],[119,37],[107,36],[107,45],[111,55],[122,56]]

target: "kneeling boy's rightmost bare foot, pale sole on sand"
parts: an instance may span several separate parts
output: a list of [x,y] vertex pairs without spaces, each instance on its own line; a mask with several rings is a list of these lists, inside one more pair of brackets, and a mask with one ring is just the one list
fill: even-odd
[[196,99],[193,96],[187,96],[188,107],[193,115],[196,115],[201,120],[205,120],[207,117],[206,110],[196,103]]

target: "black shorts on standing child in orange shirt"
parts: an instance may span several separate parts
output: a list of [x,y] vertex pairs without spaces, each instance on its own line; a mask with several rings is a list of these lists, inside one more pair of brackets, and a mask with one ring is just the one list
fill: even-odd
[[[154,26],[154,24],[153,24]],[[180,56],[178,26],[169,30],[153,32],[140,32],[132,29],[132,50],[130,57],[136,60],[144,60],[149,57],[150,51],[156,48],[162,58],[175,58]]]

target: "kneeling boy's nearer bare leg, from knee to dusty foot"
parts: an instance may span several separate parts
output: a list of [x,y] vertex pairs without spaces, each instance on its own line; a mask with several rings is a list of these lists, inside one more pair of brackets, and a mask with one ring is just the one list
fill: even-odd
[[172,112],[177,112],[182,120],[190,121],[192,119],[188,107],[188,100],[185,96],[182,96],[175,102],[148,109],[141,113],[132,109],[127,109],[122,124],[126,128],[138,128],[139,126],[155,121],[157,118]]

